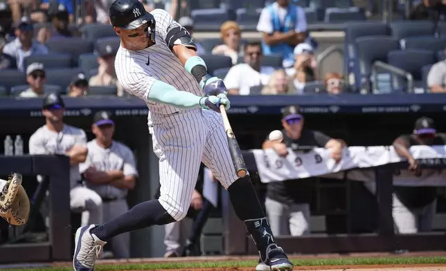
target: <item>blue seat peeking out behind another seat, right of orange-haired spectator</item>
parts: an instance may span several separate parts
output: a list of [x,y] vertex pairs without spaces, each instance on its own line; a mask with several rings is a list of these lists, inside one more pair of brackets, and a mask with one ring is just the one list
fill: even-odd
[[[346,65],[346,73],[348,77],[355,77],[359,74],[359,64],[357,57],[357,45],[355,39],[364,36],[385,36],[390,35],[390,29],[387,24],[381,21],[360,21],[347,22],[344,37],[344,63]],[[357,91],[360,87],[360,82],[350,82],[353,84],[353,91]]]

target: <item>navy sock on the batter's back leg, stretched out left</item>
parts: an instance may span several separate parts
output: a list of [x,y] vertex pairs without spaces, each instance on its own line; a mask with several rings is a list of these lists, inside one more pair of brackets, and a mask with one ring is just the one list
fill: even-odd
[[148,200],[135,205],[121,216],[90,230],[102,241],[118,234],[143,229],[152,225],[165,225],[175,219],[166,212],[158,200]]

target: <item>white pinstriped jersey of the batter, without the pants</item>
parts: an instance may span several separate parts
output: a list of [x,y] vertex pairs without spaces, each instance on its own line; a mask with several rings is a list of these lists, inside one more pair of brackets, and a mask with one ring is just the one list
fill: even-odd
[[155,81],[161,80],[175,86],[179,91],[188,91],[198,96],[203,96],[204,92],[195,77],[186,71],[166,44],[167,30],[179,24],[166,10],[157,9],[150,13],[156,21],[156,44],[138,51],[127,50],[121,46],[116,53],[116,75],[128,93],[146,102],[150,112],[172,114],[180,109],[148,101],[148,93]]

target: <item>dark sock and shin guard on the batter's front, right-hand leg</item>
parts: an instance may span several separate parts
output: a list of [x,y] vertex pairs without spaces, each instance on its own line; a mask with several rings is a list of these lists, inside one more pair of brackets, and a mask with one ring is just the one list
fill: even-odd
[[275,244],[274,236],[249,176],[235,180],[228,191],[235,214],[244,222],[262,259],[265,259],[266,248]]

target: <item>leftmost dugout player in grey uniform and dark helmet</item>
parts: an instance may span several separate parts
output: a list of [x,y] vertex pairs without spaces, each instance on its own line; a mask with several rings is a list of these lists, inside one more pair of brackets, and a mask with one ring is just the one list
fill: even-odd
[[44,97],[42,115],[45,117],[45,125],[30,137],[29,153],[69,157],[70,179],[59,181],[70,183],[71,211],[82,213],[81,225],[99,224],[102,223],[102,199],[95,191],[83,185],[79,172],[79,164],[87,158],[87,135],[82,129],[64,123],[64,111],[65,104],[60,95],[51,93]]

